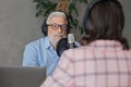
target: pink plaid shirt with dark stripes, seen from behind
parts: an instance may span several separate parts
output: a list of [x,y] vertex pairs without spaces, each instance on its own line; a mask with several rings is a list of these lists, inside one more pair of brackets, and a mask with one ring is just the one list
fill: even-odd
[[67,50],[40,87],[131,87],[131,50],[115,40]]

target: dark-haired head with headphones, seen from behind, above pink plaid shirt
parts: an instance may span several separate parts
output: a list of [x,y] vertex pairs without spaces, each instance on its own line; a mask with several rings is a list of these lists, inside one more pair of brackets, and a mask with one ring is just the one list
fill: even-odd
[[118,40],[123,45],[123,49],[129,49],[127,39],[122,37],[124,26],[122,5],[118,0],[95,2],[88,4],[90,9],[87,8],[84,20],[85,32],[90,30],[91,36],[88,42],[96,39]]

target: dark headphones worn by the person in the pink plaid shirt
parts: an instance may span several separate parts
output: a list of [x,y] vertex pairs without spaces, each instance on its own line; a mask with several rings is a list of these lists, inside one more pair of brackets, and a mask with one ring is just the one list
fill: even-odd
[[88,7],[87,7],[87,9],[86,9],[86,11],[85,11],[85,15],[84,15],[84,20],[83,20],[83,26],[84,26],[84,29],[85,29],[85,33],[88,35],[90,34],[90,17],[91,17],[91,12],[92,12],[92,10],[93,10],[93,8],[96,5],[96,4],[98,4],[98,3],[100,3],[100,2],[106,2],[106,1],[112,1],[112,2],[115,2],[116,4],[118,4],[120,8],[122,8],[121,7],[121,4],[120,4],[120,2],[118,1],[118,0],[93,0],[90,4],[88,4]]

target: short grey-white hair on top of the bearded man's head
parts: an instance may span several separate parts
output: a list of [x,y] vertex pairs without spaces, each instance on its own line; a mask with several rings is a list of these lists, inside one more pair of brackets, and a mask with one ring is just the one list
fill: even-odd
[[[47,17],[47,21],[46,21],[46,24],[49,24],[49,21],[51,17],[55,17],[55,16],[59,16],[59,17],[64,17],[67,20],[67,15],[63,13],[63,12],[52,12],[49,14],[49,16]],[[68,23],[68,22],[67,22]]]

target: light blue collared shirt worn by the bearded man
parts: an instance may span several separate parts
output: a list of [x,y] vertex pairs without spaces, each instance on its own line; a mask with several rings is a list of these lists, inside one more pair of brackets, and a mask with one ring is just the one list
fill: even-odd
[[51,75],[58,61],[59,57],[48,37],[40,38],[25,47],[23,66],[45,66],[47,75]]

